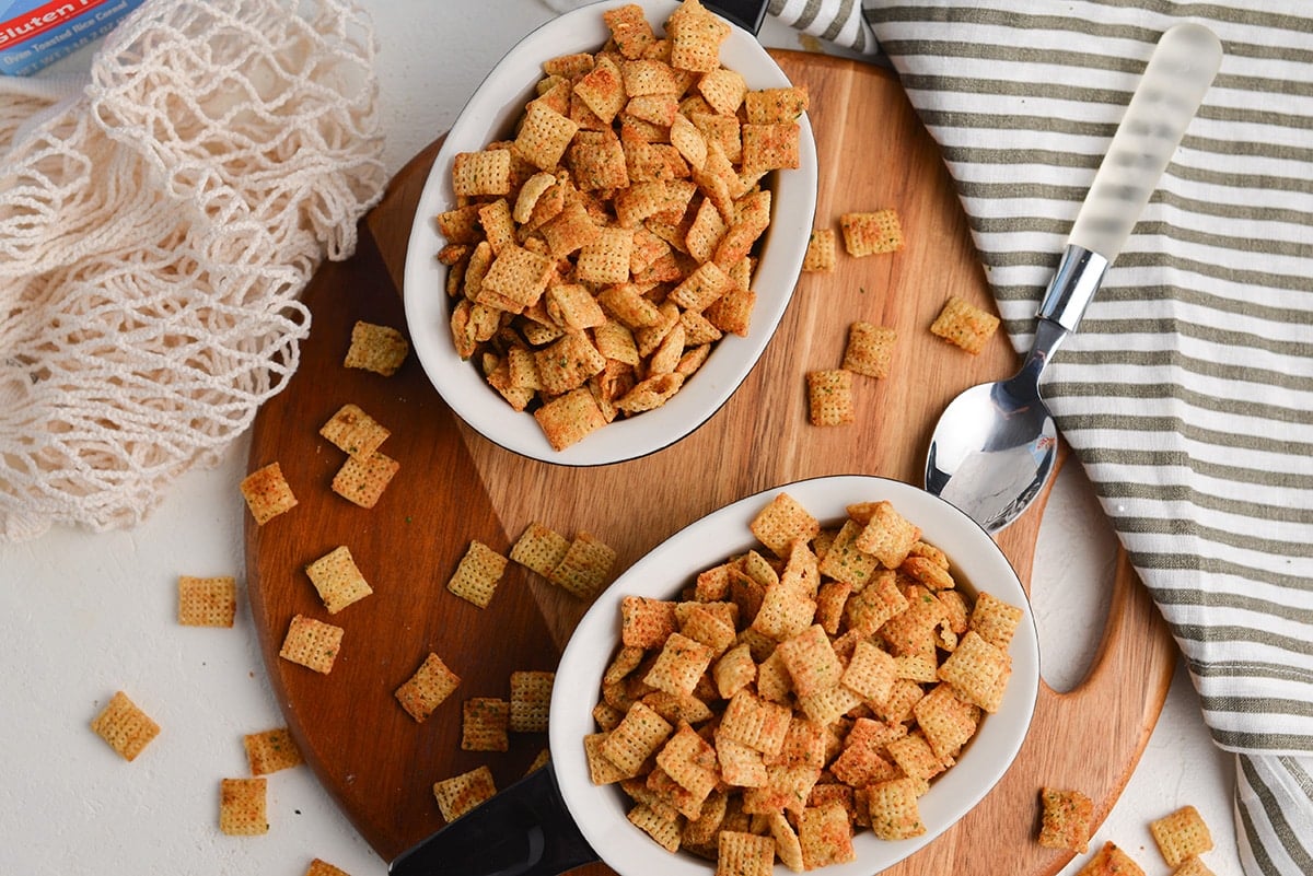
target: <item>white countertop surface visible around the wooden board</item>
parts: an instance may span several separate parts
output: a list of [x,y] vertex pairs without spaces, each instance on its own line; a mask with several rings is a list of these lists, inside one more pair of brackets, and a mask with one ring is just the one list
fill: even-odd
[[[500,55],[551,14],[538,0],[362,5],[381,42],[390,170],[441,134]],[[798,47],[773,22],[763,39]],[[242,736],[282,717],[244,598],[232,629],[180,627],[176,581],[242,581],[246,509],[236,485],[246,451],[240,441],[218,468],[181,477],[131,531],[56,527],[0,544],[8,631],[0,636],[0,873],[301,876],[315,856],[352,876],[386,872],[303,766],[269,776],[267,835],[218,830],[218,782],[246,775]],[[1032,581],[1045,679],[1058,690],[1074,686],[1094,654],[1098,624],[1082,619],[1102,616],[1113,546],[1082,476],[1069,468],[1048,509]],[[163,728],[133,763],[88,729],[118,688]],[[1239,876],[1232,788],[1233,761],[1211,744],[1178,669],[1145,755],[1095,843],[1112,839],[1148,873],[1166,873],[1148,824],[1194,804],[1216,843],[1205,862],[1218,876]]]

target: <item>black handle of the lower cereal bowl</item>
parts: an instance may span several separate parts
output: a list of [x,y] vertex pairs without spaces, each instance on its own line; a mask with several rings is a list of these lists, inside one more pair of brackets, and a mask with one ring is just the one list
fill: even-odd
[[558,876],[597,860],[551,766],[515,784],[397,856],[390,876]]

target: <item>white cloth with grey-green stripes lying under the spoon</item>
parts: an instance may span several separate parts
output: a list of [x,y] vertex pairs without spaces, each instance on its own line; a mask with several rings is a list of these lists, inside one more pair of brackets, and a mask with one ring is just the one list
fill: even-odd
[[893,63],[1019,351],[1159,34],[1192,20],[1221,37],[1204,106],[1044,391],[1237,753],[1247,875],[1313,873],[1313,1],[768,8]]

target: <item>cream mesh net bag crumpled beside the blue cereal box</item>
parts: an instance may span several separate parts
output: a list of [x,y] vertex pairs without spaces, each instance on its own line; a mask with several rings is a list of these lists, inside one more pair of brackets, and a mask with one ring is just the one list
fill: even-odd
[[0,83],[0,540],[131,526],[285,386],[386,184],[374,50],[349,3],[148,0],[71,96]]

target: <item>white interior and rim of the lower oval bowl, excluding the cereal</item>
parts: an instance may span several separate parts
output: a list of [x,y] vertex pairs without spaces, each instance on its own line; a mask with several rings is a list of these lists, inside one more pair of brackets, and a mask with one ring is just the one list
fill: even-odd
[[[1011,766],[1025,740],[1040,688],[1040,647],[1031,603],[1016,572],[994,540],[948,502],[901,481],[860,475],[817,477],[764,490],[727,505],[680,530],[626,569],[579,622],[557,667],[549,744],[561,795],[593,851],[621,876],[708,876],[714,864],[689,854],[670,854],[625,817],[628,799],[614,786],[588,778],[583,737],[595,733],[592,708],[601,675],[620,641],[620,602],[626,595],[676,598],[699,572],[754,547],[748,523],[772,496],[786,492],[822,522],[842,521],[847,505],[889,500],[919,526],[926,542],[943,549],[953,574],[970,590],[1018,606],[1024,616],[1008,653],[1012,677],[998,712],[986,715],[957,763],[934,780],[920,799],[926,833],[901,841],[869,830],[853,837],[856,859],[818,869],[826,876],[871,876],[901,862],[953,826]],[[777,873],[786,873],[776,864]]]

